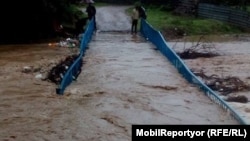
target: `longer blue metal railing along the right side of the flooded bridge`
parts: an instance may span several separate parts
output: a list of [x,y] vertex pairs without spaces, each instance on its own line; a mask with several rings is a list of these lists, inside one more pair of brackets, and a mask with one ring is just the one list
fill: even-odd
[[152,42],[158,48],[158,50],[177,68],[179,73],[182,74],[188,82],[195,84],[198,88],[203,90],[206,96],[228,111],[240,124],[247,124],[230,105],[228,105],[217,93],[211,90],[190,71],[175,51],[168,46],[162,34],[155,30],[146,20],[141,20],[140,32],[144,38]]

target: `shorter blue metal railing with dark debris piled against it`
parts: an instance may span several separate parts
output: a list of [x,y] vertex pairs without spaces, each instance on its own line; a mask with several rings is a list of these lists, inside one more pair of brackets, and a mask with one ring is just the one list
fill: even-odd
[[74,61],[74,63],[69,67],[67,72],[65,73],[59,87],[56,89],[56,93],[59,95],[63,95],[65,88],[70,85],[70,83],[76,79],[78,74],[81,72],[82,67],[82,57],[86,51],[87,45],[91,40],[92,34],[94,32],[94,20],[90,20],[88,26],[83,33],[83,37],[81,39],[80,44],[80,54],[78,58]]

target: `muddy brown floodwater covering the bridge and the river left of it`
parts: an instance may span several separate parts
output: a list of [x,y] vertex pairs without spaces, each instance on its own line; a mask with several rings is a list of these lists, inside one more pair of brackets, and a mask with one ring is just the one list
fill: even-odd
[[72,53],[48,43],[0,48],[0,140],[131,139],[132,124],[238,124],[139,35],[98,32],[63,96],[25,66]]

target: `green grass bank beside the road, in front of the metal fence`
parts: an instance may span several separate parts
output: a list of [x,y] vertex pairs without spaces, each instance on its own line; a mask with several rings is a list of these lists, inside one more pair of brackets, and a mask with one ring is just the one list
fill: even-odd
[[159,8],[147,9],[147,21],[157,30],[180,28],[187,35],[242,33],[242,29],[230,24],[192,16],[177,16]]

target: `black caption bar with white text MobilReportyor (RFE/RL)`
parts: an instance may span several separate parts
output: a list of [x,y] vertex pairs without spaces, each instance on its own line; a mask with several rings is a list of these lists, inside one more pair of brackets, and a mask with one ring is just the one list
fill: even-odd
[[250,125],[132,125],[132,141],[250,141]]

